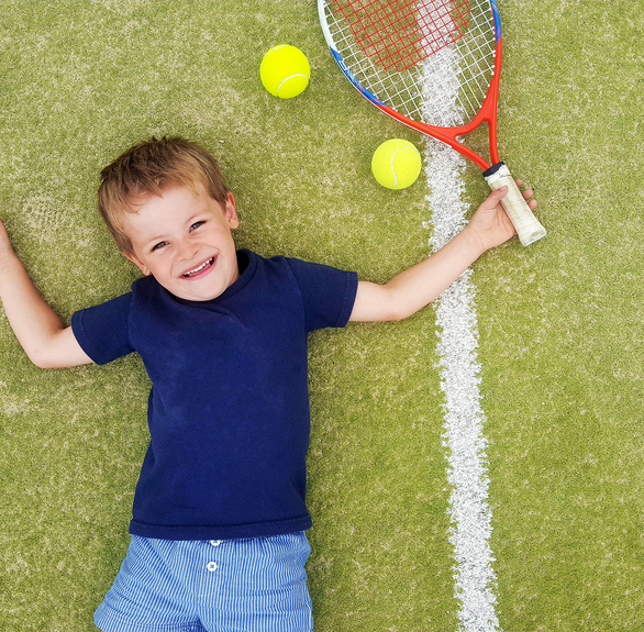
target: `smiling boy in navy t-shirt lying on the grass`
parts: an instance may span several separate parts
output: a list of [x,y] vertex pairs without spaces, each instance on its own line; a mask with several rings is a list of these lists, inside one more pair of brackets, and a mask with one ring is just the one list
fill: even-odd
[[[153,384],[131,545],[95,614],[101,630],[313,629],[307,336],[426,306],[514,234],[506,190],[441,251],[377,285],[236,251],[235,200],[215,159],[184,138],[153,138],[106,167],[99,188],[108,229],[144,277],[68,328],[0,222],[0,298],[32,362],[104,364],[136,351]],[[536,207],[531,189],[523,197]]]

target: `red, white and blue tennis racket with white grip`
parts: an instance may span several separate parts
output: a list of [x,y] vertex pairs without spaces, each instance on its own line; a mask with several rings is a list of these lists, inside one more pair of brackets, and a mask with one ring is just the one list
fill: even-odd
[[[546,234],[497,149],[501,21],[496,0],[318,0],[337,65],[397,121],[454,147],[484,169],[526,246]],[[491,164],[462,137],[489,127]]]

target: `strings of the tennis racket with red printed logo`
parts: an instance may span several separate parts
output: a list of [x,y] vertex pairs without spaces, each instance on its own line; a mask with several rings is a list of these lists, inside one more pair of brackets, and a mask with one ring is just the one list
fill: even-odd
[[[415,121],[456,126],[474,119],[488,92],[495,69],[496,33],[489,1],[378,0],[379,7],[388,7],[389,25],[399,14],[409,22],[409,10],[413,8],[414,11],[413,46],[414,51],[422,53],[417,52],[415,63],[401,71],[396,69],[396,65],[385,69],[378,56],[367,55],[364,43],[360,44],[355,35],[357,26],[352,26],[345,18],[351,8],[357,10],[370,4],[374,4],[371,0],[330,0],[325,10],[334,44],[346,67],[363,87]],[[449,21],[454,20],[460,20],[458,38],[438,47],[436,40],[443,37],[444,42],[453,36]],[[374,20],[370,25],[373,29],[378,26]],[[391,29],[386,31],[387,37],[392,38]],[[370,36],[376,37],[374,33]],[[399,46],[401,49],[409,47],[409,40]]]

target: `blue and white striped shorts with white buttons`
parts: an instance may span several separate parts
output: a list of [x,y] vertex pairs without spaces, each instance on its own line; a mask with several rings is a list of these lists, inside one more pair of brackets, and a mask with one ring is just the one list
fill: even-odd
[[310,632],[304,532],[244,540],[132,536],[95,613],[103,632]]

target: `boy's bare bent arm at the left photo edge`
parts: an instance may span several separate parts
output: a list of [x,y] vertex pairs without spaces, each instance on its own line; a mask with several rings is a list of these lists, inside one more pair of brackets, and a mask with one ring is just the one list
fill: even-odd
[[41,368],[90,364],[71,328],[65,328],[42,299],[15,256],[0,221],[0,300],[9,323],[30,359]]

